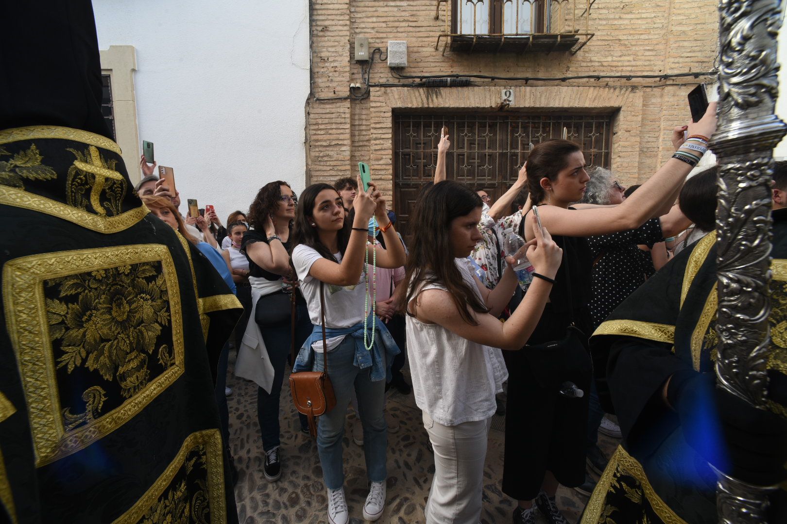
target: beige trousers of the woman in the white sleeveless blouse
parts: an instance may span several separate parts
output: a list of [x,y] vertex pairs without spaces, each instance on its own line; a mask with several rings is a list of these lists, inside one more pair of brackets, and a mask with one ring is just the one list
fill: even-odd
[[427,524],[481,522],[486,441],[492,418],[443,426],[423,412],[434,448],[434,478],[424,512]]

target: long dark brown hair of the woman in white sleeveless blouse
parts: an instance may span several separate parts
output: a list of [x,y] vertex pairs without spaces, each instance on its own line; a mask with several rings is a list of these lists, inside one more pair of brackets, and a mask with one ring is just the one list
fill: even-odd
[[[415,298],[423,284],[441,284],[450,293],[456,310],[467,324],[478,325],[467,311],[470,306],[476,313],[489,310],[478,299],[477,292],[462,278],[452,255],[450,233],[454,218],[471,213],[483,202],[467,185],[445,180],[433,185],[419,198],[413,214],[412,241],[407,258],[405,282],[410,283],[405,304]],[[405,306],[407,314],[412,316]]]

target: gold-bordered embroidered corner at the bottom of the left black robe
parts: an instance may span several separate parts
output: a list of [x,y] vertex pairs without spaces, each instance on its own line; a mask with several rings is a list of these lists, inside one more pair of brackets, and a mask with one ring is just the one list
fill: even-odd
[[211,429],[190,434],[153,486],[113,524],[226,519],[221,434]]

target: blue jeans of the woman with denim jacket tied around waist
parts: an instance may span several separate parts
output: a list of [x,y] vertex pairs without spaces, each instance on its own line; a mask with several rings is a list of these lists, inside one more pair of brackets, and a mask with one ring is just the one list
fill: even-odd
[[[314,356],[314,371],[323,370],[323,354]],[[360,369],[353,365],[355,342],[350,336],[328,352],[328,376],[336,395],[334,409],[320,416],[317,426],[317,451],[323,467],[323,481],[328,489],[344,485],[342,437],[344,436],[347,406],[353,394],[358,397],[358,415],[364,427],[364,457],[366,476],[371,482],[385,481],[388,425],[382,411],[385,405],[386,381],[372,382],[371,368]]]

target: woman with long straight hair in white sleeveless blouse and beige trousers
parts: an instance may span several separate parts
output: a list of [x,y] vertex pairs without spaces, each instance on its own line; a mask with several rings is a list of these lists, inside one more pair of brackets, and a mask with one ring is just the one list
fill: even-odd
[[[508,258],[499,283],[487,289],[467,256],[481,240],[482,200],[467,185],[442,181],[421,196],[412,218],[407,346],[416,404],[434,447],[428,524],[476,524],[486,440],[508,377],[501,350],[519,350],[533,332],[562,251],[544,230],[527,244],[534,279],[512,316],[498,316],[517,285]],[[520,251],[518,256],[521,256]]]

